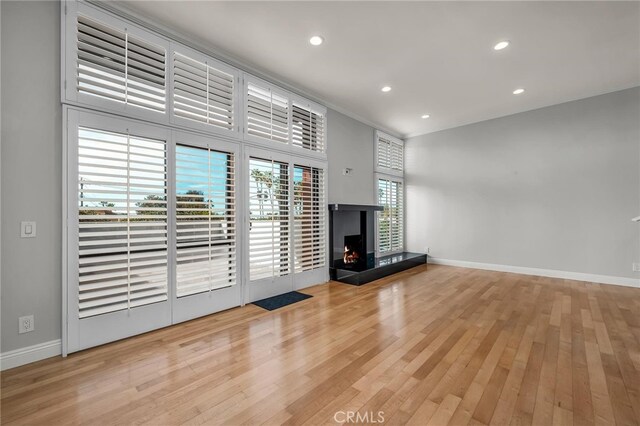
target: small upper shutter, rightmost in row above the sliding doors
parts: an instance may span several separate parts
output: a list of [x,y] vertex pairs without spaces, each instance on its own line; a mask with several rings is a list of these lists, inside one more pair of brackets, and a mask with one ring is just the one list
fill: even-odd
[[292,144],[311,151],[324,152],[324,123],[324,113],[294,102],[291,117]]

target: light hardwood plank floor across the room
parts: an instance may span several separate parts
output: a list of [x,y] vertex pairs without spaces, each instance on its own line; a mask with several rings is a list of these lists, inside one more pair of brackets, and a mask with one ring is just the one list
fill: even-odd
[[305,292],[5,371],[2,424],[640,424],[640,289],[429,265]]

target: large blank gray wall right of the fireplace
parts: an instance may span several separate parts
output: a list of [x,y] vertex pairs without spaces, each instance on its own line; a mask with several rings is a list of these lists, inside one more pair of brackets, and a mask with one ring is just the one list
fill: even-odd
[[638,278],[640,89],[411,138],[408,249]]

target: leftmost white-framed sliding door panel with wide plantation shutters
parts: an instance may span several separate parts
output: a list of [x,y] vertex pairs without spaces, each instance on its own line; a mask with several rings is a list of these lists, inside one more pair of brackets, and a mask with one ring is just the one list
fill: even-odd
[[154,126],[69,113],[68,348],[170,324],[167,146]]

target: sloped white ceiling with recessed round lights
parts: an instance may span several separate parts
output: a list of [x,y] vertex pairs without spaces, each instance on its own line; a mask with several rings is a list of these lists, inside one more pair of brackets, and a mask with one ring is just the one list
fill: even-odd
[[638,2],[118,4],[400,136],[640,85]]

